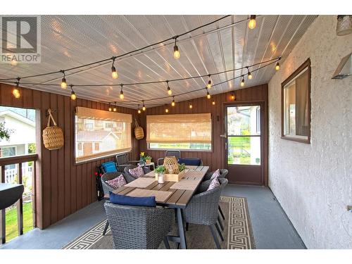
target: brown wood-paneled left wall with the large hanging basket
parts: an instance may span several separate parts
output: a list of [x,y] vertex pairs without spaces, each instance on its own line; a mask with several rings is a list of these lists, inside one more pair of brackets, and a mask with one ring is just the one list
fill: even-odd
[[[45,228],[58,220],[80,210],[96,201],[94,172],[97,165],[111,161],[114,158],[102,158],[96,161],[75,165],[74,162],[74,113],[75,106],[108,110],[105,103],[84,99],[71,100],[49,92],[20,88],[20,99],[12,95],[13,87],[0,83],[0,105],[37,109],[37,175],[35,177],[37,227]],[[46,110],[57,110],[54,118],[62,128],[65,136],[65,146],[59,150],[49,151],[42,143],[42,130],[46,127],[48,118]],[[130,108],[118,107],[120,113],[136,115]],[[137,158],[139,144],[132,135],[132,152],[130,158]]]

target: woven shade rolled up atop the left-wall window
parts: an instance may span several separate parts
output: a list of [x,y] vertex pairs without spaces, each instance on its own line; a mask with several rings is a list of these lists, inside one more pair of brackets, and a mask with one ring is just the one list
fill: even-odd
[[81,106],[76,107],[76,115],[78,118],[132,123],[132,115],[127,113],[108,112]]

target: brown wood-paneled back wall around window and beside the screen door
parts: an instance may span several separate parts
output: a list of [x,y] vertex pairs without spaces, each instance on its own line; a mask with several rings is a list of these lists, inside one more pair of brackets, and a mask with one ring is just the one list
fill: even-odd
[[[170,115],[182,113],[211,113],[212,116],[212,129],[213,129],[213,149],[212,151],[182,151],[182,157],[198,157],[203,160],[204,165],[209,165],[210,170],[222,168],[225,165],[224,154],[224,138],[220,134],[225,132],[223,110],[225,103],[233,101],[231,99],[231,92],[224,94],[216,94],[211,99],[198,98],[189,101],[176,102],[176,106],[168,105],[169,113],[165,113],[165,106],[158,106],[147,108],[146,112],[141,114],[140,123],[144,130],[146,129],[146,115]],[[263,101],[268,108],[268,84],[258,85],[256,87],[249,87],[246,89],[239,89],[234,92],[236,99],[235,102],[251,102]],[[211,104],[215,101],[215,106]],[[189,103],[192,103],[193,108],[189,109]],[[177,129],[177,127],[175,127]],[[139,142],[139,149],[146,151],[153,157],[153,161],[165,156],[165,151],[156,151],[147,149],[146,140],[142,139]]]

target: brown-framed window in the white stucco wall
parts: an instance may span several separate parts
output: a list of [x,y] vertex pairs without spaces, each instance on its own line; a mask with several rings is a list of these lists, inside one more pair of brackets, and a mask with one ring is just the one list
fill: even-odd
[[310,143],[310,60],[282,82],[282,138]]

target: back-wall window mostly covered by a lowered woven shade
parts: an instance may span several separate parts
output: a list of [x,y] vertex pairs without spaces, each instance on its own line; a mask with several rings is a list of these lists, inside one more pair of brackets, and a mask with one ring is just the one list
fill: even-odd
[[150,149],[211,150],[211,115],[147,115],[146,142]]

